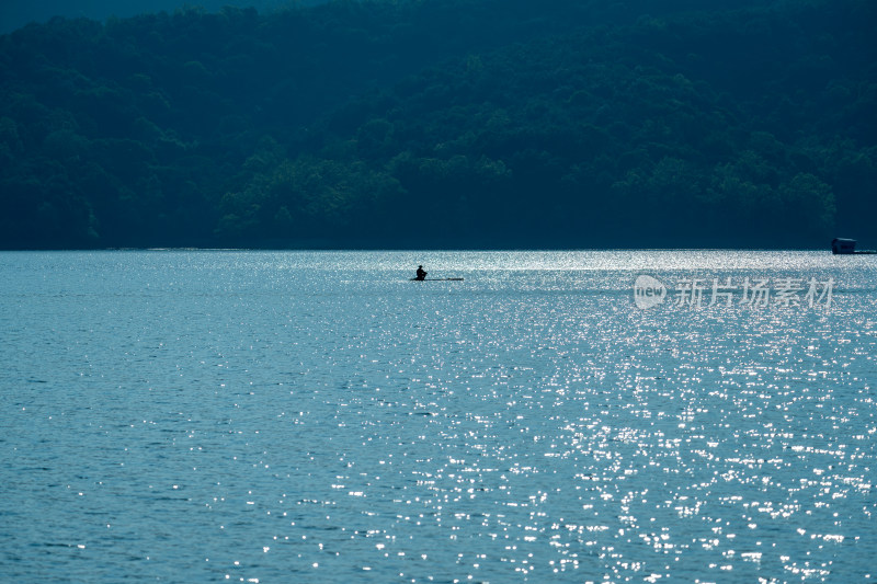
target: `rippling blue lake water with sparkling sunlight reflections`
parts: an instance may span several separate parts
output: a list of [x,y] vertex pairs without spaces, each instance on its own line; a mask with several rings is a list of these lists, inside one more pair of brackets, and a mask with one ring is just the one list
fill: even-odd
[[877,255],[2,253],[0,335],[7,582],[877,580]]

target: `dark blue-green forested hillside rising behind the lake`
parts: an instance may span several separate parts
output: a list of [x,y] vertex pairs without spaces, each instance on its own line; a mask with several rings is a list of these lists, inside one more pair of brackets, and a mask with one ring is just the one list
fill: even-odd
[[29,25],[0,37],[0,248],[874,242],[875,30],[873,0]]

